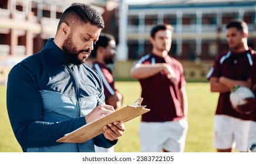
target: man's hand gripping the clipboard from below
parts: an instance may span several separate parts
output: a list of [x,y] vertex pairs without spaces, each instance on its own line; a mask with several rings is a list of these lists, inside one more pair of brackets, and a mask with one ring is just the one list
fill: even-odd
[[106,139],[114,141],[123,135],[124,130],[124,124],[120,124],[120,122],[113,122],[112,124],[108,124],[103,127],[103,135]]

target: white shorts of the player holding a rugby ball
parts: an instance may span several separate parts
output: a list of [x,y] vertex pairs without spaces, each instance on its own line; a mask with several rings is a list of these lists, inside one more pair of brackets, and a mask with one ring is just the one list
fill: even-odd
[[250,121],[215,115],[213,124],[213,145],[217,149],[236,148],[247,152]]

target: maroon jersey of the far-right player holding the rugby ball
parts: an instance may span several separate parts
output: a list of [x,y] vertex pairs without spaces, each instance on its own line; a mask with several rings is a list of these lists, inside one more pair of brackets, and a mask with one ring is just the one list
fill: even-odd
[[[223,52],[214,60],[213,70],[210,77],[227,77],[233,80],[247,81],[251,78],[256,80],[256,73],[252,69],[256,64],[256,54],[251,48],[242,53]],[[255,81],[256,82],[256,81]],[[256,114],[240,114],[233,110],[230,102],[230,92],[220,93],[218,98],[216,115],[229,115],[244,120],[256,121]]]

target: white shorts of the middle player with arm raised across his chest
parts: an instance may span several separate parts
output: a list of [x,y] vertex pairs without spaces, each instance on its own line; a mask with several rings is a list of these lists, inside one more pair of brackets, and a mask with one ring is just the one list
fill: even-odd
[[141,152],[183,152],[188,124],[186,119],[168,122],[140,122]]

